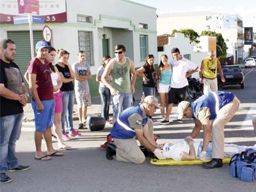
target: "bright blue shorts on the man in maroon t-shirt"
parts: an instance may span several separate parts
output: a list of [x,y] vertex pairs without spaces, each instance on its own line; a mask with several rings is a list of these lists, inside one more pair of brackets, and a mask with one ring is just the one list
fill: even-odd
[[38,111],[36,109],[36,102],[32,100],[31,105],[35,115],[35,127],[36,131],[45,132],[46,128],[52,127],[53,116],[54,116],[54,100],[42,100],[44,105],[43,111]]

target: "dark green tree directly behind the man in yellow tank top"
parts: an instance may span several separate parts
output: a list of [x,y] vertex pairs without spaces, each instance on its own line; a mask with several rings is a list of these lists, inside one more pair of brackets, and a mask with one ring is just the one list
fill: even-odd
[[217,57],[226,58],[228,47],[221,33],[216,33],[214,31],[202,31],[201,35],[216,36]]

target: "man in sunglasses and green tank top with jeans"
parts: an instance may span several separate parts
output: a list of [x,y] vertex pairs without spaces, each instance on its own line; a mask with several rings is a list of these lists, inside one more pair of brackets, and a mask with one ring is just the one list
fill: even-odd
[[[113,123],[116,122],[122,110],[131,107],[132,93],[135,92],[136,71],[133,61],[125,57],[125,51],[124,45],[115,46],[115,58],[106,65],[101,77],[102,83],[113,95]],[[109,75],[112,77],[112,84],[108,83]]]

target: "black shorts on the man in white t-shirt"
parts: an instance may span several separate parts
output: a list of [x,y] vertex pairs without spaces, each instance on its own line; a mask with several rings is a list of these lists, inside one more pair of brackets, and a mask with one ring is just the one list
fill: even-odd
[[186,100],[186,86],[183,88],[171,88],[168,92],[168,104],[179,103]]

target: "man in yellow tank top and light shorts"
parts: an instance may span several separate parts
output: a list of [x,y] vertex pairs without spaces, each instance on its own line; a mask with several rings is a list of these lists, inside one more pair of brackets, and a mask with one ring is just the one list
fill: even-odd
[[215,52],[210,50],[208,57],[202,60],[199,71],[200,83],[204,84],[204,94],[218,90],[218,80],[216,78],[218,70],[220,72],[221,81],[224,83],[226,80],[223,76],[220,61],[218,58],[215,58]]

